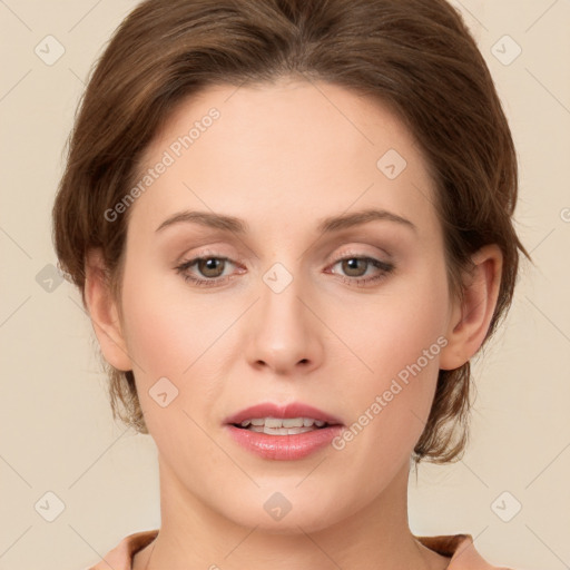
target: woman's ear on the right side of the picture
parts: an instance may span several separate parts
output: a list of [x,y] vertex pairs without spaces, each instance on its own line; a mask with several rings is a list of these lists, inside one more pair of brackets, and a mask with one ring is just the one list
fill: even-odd
[[463,301],[452,301],[445,335],[448,345],[440,353],[442,370],[459,368],[476,353],[497,306],[503,265],[501,248],[495,244],[484,246],[472,256],[472,261],[474,267],[463,285]]

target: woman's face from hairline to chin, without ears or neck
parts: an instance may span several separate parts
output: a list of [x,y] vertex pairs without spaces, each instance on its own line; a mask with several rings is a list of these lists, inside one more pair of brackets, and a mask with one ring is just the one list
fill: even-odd
[[[434,185],[412,135],[330,83],[217,86],[177,108],[140,179],[128,356],[114,364],[135,372],[161,478],[274,532],[317,530],[389,493],[428,419],[451,318]],[[355,216],[365,210],[376,215]],[[268,456],[225,423],[293,402],[336,419],[334,440]],[[271,498],[291,504],[282,520]]]

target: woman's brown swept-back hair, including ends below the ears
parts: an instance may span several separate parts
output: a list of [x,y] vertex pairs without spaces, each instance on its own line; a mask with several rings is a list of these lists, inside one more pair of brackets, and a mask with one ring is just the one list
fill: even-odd
[[[138,161],[176,104],[209,85],[318,79],[389,105],[415,136],[436,184],[450,291],[470,256],[503,253],[485,342],[513,295],[520,243],[512,215],[518,167],[487,65],[444,0],[147,0],[119,26],[83,95],[53,207],[61,269],[81,291],[88,250],[102,249],[119,298],[128,212],[104,213],[135,184]],[[132,371],[106,365],[114,417],[148,433]],[[466,442],[470,363],[439,372],[415,449],[448,462]]]

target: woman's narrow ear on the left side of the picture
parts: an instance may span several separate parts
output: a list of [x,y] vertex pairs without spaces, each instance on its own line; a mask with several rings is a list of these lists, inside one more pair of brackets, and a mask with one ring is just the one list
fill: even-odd
[[99,248],[91,249],[87,254],[85,299],[105,360],[120,371],[132,370],[117,302],[112,297]]

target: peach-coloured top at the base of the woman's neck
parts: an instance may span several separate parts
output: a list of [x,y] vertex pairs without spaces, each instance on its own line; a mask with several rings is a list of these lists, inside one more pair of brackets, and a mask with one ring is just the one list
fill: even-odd
[[[158,530],[135,532],[125,537],[117,547],[107,553],[104,560],[88,570],[132,570],[132,558],[147,544],[155,540]],[[494,567],[485,562],[473,546],[471,534],[450,537],[416,537],[426,548],[439,554],[450,557],[448,570],[510,570]]]

